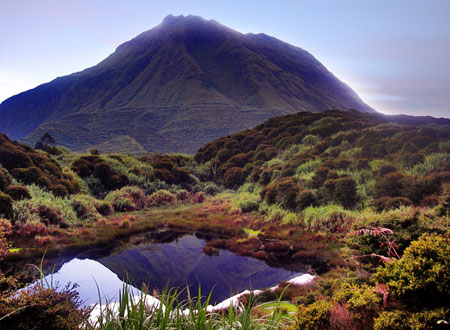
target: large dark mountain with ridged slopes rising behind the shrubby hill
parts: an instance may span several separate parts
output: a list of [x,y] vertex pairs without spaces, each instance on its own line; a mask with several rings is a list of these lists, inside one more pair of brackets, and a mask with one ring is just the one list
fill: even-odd
[[305,50],[168,16],[96,66],[5,100],[0,132],[27,143],[50,132],[72,150],[194,153],[274,116],[329,109],[374,111]]

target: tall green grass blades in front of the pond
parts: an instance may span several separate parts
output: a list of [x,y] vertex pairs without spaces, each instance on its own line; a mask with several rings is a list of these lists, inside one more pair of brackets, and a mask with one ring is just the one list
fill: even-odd
[[[179,302],[177,290],[169,290],[159,296],[160,303],[144,293],[136,296],[128,285],[119,293],[118,304],[96,306],[99,315],[90,317],[82,325],[91,330],[110,329],[279,329],[281,324],[290,323],[280,310],[292,310],[286,302],[271,302],[257,305],[249,296],[246,303],[230,304],[223,311],[208,311],[211,292],[202,303],[199,288],[197,296]],[[265,307],[264,307],[265,306]],[[268,306],[268,307],[267,307]],[[266,308],[263,316],[256,310]],[[295,308],[295,307],[294,307]],[[269,309],[271,309],[269,311]],[[283,317],[283,318],[282,318]]]

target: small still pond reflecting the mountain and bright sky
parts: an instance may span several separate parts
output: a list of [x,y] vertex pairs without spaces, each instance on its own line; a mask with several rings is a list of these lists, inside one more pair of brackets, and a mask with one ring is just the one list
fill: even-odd
[[[203,253],[205,241],[186,235],[169,243],[141,244],[118,253],[93,259],[74,258],[65,262],[46,279],[58,283],[77,283],[77,291],[85,305],[99,301],[116,301],[123,281],[136,288],[147,286],[148,292],[161,293],[167,288],[182,290],[180,299],[212,290],[211,303],[218,303],[246,289],[263,289],[277,285],[304,272],[268,266],[264,261],[243,257],[227,250],[218,256]],[[99,290],[97,290],[97,288]]]

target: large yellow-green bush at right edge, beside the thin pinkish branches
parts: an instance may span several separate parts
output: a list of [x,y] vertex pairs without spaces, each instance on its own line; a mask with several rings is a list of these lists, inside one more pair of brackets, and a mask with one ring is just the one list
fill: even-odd
[[423,234],[411,242],[403,256],[374,275],[389,292],[414,306],[446,306],[450,300],[449,238]]

